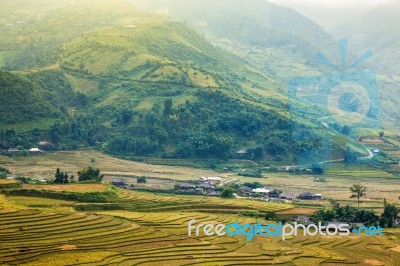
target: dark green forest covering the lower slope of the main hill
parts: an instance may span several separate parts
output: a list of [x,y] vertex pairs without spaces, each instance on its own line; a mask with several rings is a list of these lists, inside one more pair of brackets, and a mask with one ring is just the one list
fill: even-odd
[[[235,149],[253,141],[258,144],[248,149],[251,159],[268,155],[293,159],[290,155],[323,141],[322,137],[294,141],[288,119],[222,93],[200,91],[197,97],[196,102],[186,101],[177,107],[172,99],[166,99],[163,105],[156,104],[149,111],[121,112],[116,120],[123,133],[107,141],[106,150],[115,154],[229,158]],[[308,131],[307,134],[314,134],[313,130]],[[167,146],[176,147],[175,151],[167,154]]]

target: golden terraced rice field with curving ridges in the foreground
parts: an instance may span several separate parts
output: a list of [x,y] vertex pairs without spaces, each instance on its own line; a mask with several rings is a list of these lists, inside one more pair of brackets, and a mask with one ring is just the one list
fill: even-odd
[[211,213],[0,216],[0,263],[19,265],[399,265],[400,232],[384,237],[188,237],[187,222],[255,222]]

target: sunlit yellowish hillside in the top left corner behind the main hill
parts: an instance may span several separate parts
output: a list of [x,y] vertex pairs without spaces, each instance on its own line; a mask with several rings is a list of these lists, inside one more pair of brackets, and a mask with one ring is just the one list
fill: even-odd
[[[26,14],[26,1],[13,1],[4,15],[0,36],[0,63],[7,70],[32,69],[57,63],[63,45],[83,33],[123,25],[139,11],[124,1],[58,2],[52,9]],[[44,1],[43,5],[47,2]],[[64,3],[64,5],[61,5]],[[60,7],[61,5],[61,7]],[[32,7],[33,8],[33,7]]]

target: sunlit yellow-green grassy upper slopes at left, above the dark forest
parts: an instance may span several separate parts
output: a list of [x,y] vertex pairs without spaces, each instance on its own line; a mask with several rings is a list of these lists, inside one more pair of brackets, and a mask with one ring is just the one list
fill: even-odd
[[[118,89],[111,91],[110,95],[102,95],[104,92],[98,90],[100,80],[96,78],[108,75],[114,76],[112,83],[115,85],[135,80],[168,83],[168,86],[183,83],[192,88],[214,88],[227,86],[222,75],[238,73],[252,76],[264,90],[274,91],[278,87],[238,58],[215,49],[184,25],[138,11],[123,1],[87,0],[61,8],[48,5],[49,9],[54,8],[50,12],[41,9],[41,4],[48,3],[7,2],[11,14],[5,14],[3,19],[12,26],[4,26],[0,36],[3,67],[27,69],[34,76],[44,71],[56,72],[61,64],[68,71],[55,75],[60,79],[67,78],[70,84],[66,86],[72,86],[75,91],[100,96],[100,105],[118,104],[114,100],[121,100]],[[52,26],[48,27],[49,24]],[[125,27],[128,25],[136,28]],[[82,68],[81,64],[84,65]],[[93,75],[86,75],[84,71]],[[45,87],[48,88],[49,84]],[[192,91],[180,96],[178,102],[194,99],[190,96]],[[238,92],[234,95],[241,98]],[[129,97],[137,99],[140,95],[130,93]],[[146,97],[139,100],[143,101],[142,106],[151,107],[156,99]],[[43,120],[36,126],[47,128],[46,125]],[[29,129],[29,123],[14,128]]]

